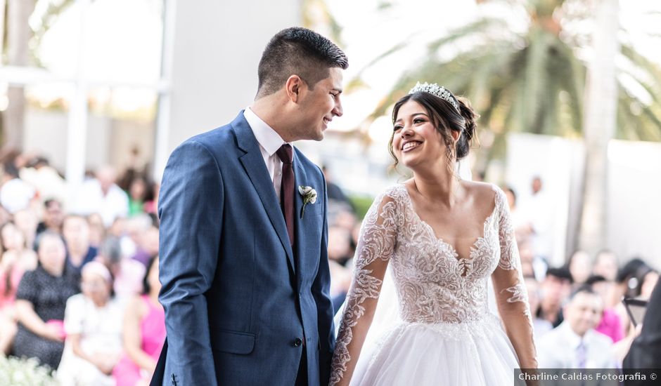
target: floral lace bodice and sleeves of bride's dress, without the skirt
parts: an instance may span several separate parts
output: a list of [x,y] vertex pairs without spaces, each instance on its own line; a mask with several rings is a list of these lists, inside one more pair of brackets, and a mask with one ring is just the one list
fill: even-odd
[[376,307],[388,262],[399,314],[405,322],[458,324],[484,317],[489,314],[487,279],[499,268],[512,272],[504,275],[508,284],[496,287],[497,293],[506,296],[503,302],[520,304],[518,315],[527,316],[526,324],[532,325],[506,197],[500,189],[493,189],[494,211],[484,221],[484,234],[471,246],[469,258],[459,258],[454,247],[437,238],[432,227],[418,217],[404,185],[388,189],[374,201],[354,258],[354,282],[335,345],[331,385],[351,372],[347,372],[347,363],[360,352],[354,345],[362,342],[357,339],[359,343],[352,345],[354,334],[366,333],[365,327],[357,325],[370,307]]

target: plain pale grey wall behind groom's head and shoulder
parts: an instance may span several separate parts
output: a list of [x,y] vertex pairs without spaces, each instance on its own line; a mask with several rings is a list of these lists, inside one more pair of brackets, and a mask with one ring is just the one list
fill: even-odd
[[177,2],[166,157],[252,102],[264,47],[281,29],[301,24],[300,9],[300,0]]

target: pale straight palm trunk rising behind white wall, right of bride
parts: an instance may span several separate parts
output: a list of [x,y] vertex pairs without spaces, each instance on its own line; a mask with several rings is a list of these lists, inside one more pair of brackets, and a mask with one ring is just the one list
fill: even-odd
[[617,119],[615,58],[620,51],[618,0],[596,0],[593,58],[586,85],[584,139],[585,180],[579,248],[596,253],[608,247],[608,142]]

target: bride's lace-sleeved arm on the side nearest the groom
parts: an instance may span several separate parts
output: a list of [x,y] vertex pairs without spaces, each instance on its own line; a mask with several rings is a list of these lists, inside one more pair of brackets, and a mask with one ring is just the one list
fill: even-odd
[[396,201],[387,195],[369,209],[354,255],[354,279],[347,295],[331,365],[331,385],[348,385],[371,325],[383,276],[395,248]]

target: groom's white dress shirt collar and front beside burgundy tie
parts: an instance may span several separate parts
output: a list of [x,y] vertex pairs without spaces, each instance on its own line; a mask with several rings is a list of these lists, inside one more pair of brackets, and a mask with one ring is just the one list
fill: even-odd
[[252,112],[250,107],[245,107],[245,110],[243,111],[243,117],[245,117],[245,120],[248,121],[250,128],[252,128],[252,133],[255,134],[255,138],[259,143],[259,150],[262,152],[264,164],[267,166],[267,170],[271,176],[271,181],[273,181],[273,187],[276,189],[276,196],[278,197],[278,201],[280,201],[280,187],[282,185],[282,161],[280,161],[280,157],[278,157],[276,152],[286,142],[278,133],[276,133],[273,128],[271,128],[271,126],[262,121],[261,118],[257,117],[257,114]]

